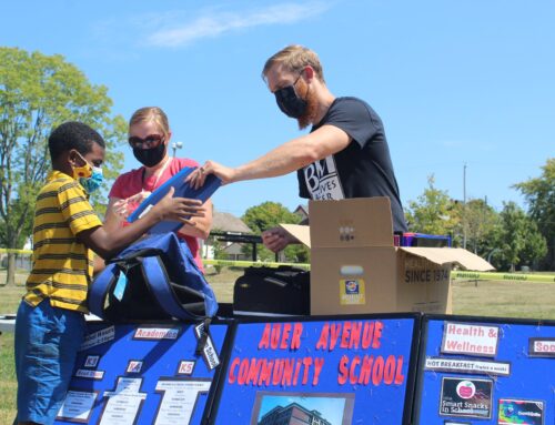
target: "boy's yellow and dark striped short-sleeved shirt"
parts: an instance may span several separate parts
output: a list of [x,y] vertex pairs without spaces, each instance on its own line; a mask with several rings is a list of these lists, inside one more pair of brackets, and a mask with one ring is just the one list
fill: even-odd
[[37,196],[33,267],[23,296],[29,304],[49,298],[54,307],[88,312],[93,252],[75,236],[100,225],[78,181],[52,171]]

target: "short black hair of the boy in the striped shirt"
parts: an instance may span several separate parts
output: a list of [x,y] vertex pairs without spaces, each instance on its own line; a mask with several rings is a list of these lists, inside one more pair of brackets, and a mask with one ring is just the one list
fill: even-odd
[[105,149],[104,139],[95,130],[77,121],[60,124],[48,138],[48,149],[52,161],[70,149],[74,149],[80,154],[85,155],[92,150],[93,143]]

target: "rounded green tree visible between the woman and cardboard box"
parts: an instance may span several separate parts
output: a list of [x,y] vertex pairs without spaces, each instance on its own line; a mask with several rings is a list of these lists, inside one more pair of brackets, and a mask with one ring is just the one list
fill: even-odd
[[[289,211],[278,202],[263,202],[260,205],[251,206],[241,217],[243,222],[252,229],[255,234],[275,227],[280,223],[297,224],[301,216]],[[244,246],[245,253],[251,254],[251,246]],[[285,260],[291,262],[307,262],[309,250],[303,245],[289,245],[285,250]],[[258,256],[262,261],[272,261],[274,253],[264,246],[258,249]]]

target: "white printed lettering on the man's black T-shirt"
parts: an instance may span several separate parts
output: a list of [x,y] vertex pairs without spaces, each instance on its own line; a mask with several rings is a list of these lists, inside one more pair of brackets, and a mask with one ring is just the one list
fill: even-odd
[[333,155],[305,166],[303,172],[311,199],[345,199]]

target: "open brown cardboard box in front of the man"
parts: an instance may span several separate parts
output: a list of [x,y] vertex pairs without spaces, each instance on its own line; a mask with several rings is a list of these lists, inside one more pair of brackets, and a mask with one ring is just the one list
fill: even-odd
[[450,314],[452,267],[494,269],[463,249],[394,246],[387,198],[311,201],[309,210],[310,230],[282,227],[311,247],[313,315]]

